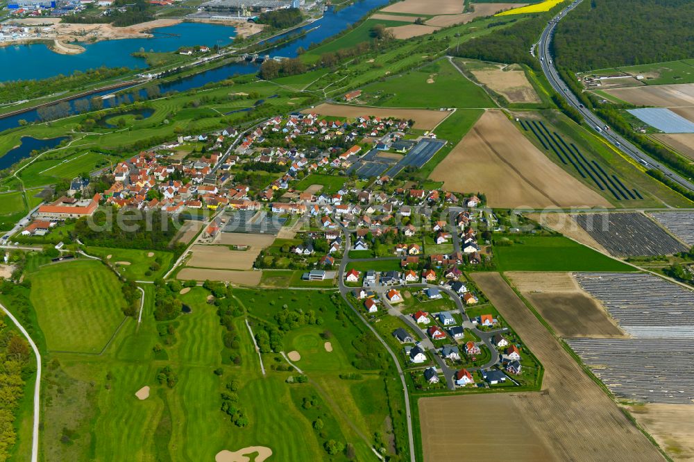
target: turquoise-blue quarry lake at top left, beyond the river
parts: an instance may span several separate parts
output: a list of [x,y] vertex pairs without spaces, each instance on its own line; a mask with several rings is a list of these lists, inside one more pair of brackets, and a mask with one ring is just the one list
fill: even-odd
[[[165,34],[176,34],[174,36]],[[142,58],[130,53],[145,51],[174,51],[181,46],[228,45],[236,29],[220,24],[184,22],[176,26],[155,29],[154,37],[141,39],[105,40],[83,44],[84,53],[60,55],[44,44],[5,46],[0,48],[0,81],[28,80],[72,74],[97,67],[144,68]]]

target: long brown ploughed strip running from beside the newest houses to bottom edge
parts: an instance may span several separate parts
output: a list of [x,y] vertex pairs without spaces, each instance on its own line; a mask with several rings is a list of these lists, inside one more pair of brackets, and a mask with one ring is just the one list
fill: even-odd
[[[473,273],[472,277],[544,366],[541,392],[514,393],[509,398],[556,460],[613,459],[615,454],[625,461],[663,460],[498,273]],[[489,415],[484,408],[480,413]]]

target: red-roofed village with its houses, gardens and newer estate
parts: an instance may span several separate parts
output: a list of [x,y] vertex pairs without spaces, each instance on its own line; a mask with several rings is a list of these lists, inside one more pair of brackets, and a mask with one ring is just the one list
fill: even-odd
[[[432,139],[411,121],[313,112],[179,136],[103,171],[108,189],[75,178],[12,239],[40,242],[100,209],[185,216],[199,232],[179,279],[233,283],[253,273],[260,284],[261,274],[292,268],[301,284],[337,285],[377,330],[387,328],[415,389],[532,386],[539,364],[521,356],[517,336],[464,275],[491,265],[496,219],[482,212],[484,195],[355,170],[375,155],[405,159]],[[184,146],[194,147],[182,156]],[[241,266],[229,263],[239,258]]]

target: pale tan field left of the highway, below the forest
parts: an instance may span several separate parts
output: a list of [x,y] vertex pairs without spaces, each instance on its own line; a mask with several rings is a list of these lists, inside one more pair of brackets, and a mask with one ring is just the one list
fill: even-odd
[[482,85],[504,96],[509,103],[542,102],[520,65],[475,62],[468,70]]

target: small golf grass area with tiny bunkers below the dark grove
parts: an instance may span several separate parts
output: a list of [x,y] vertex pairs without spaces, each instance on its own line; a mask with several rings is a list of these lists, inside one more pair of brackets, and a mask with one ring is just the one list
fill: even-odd
[[[170,252],[152,252],[150,257],[149,250],[136,250],[126,248],[108,247],[87,247],[86,252],[103,259],[104,262],[115,264],[118,272],[124,277],[138,281],[153,281],[162,277],[169,271],[171,259],[174,257]],[[108,256],[110,255],[110,258]],[[117,262],[128,262],[129,265],[117,264]],[[158,269],[151,269],[153,266]]]

